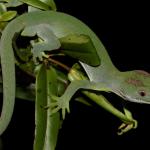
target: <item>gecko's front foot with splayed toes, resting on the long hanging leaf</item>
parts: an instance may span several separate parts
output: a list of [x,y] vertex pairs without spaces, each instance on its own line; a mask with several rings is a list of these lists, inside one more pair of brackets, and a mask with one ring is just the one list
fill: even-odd
[[65,119],[66,111],[69,113],[69,102],[63,97],[51,96],[54,102],[51,103],[52,114],[58,112],[60,109],[62,111],[62,117]]

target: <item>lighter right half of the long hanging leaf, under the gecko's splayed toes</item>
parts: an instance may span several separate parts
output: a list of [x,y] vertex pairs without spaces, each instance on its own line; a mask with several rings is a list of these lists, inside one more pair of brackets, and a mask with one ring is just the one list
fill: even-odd
[[[51,95],[57,95],[57,74],[53,68],[46,70],[47,75],[47,104],[51,105]],[[55,150],[58,131],[60,128],[60,116],[57,112],[51,115],[51,109],[47,110],[47,128],[44,150]]]

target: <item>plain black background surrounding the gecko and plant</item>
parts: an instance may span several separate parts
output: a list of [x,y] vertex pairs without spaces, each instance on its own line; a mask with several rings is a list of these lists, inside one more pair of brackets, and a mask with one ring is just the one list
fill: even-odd
[[[143,69],[150,72],[150,12],[144,2],[56,0],[59,11],[69,13],[93,29],[121,71]],[[121,99],[106,95],[118,105]],[[120,120],[100,107],[88,108],[71,102],[71,114],[60,130],[56,150],[97,150],[142,147],[150,143],[150,105],[128,103],[138,128],[122,136],[116,134]],[[17,101],[12,122],[2,136],[4,150],[32,150],[34,104]]]

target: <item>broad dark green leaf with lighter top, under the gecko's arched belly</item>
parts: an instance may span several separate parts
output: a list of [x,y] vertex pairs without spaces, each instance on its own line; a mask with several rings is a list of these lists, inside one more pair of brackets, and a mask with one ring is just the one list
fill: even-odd
[[69,34],[60,38],[60,43],[61,50],[66,55],[79,59],[91,66],[100,65],[100,58],[89,36]]

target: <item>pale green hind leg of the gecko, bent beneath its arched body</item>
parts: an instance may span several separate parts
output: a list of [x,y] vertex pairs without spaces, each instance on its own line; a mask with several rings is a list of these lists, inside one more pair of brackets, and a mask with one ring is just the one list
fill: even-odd
[[33,53],[33,59],[36,62],[38,57],[42,60],[43,51],[56,50],[60,47],[60,42],[52,31],[50,25],[48,24],[37,24],[32,26],[27,26],[21,33],[22,36],[37,36],[38,40],[32,40],[31,52]]

